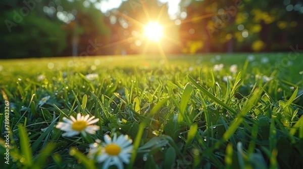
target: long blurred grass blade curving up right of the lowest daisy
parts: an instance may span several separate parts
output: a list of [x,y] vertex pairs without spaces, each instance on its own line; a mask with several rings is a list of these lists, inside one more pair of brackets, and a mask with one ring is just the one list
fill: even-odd
[[134,144],[133,144],[133,146],[134,146],[133,153],[131,155],[130,162],[129,162],[128,166],[127,166],[128,169],[132,168],[132,166],[133,166],[133,164],[135,162],[136,155],[137,155],[137,149],[139,147],[140,140],[142,138],[142,134],[143,134],[145,126],[147,125],[147,123],[150,120],[150,118],[153,117],[156,112],[158,112],[158,110],[167,102],[168,99],[169,98],[165,98],[162,101],[158,102],[157,105],[153,109],[151,109],[151,111],[149,112],[149,114],[140,123],[139,130],[138,130],[138,133],[136,135],[136,138],[135,138],[135,141],[134,141]]

